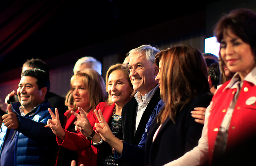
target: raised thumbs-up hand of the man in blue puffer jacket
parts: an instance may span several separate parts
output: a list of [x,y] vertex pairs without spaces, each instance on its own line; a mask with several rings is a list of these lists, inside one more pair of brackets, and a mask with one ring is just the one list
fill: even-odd
[[4,126],[7,126],[8,129],[17,129],[20,125],[20,121],[16,114],[12,111],[10,104],[7,106],[8,113],[2,116]]

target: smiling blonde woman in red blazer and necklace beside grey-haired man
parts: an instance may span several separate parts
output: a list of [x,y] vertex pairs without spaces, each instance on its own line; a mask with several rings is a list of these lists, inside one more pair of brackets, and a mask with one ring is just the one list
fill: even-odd
[[[122,139],[122,135],[116,135],[122,128],[121,115],[122,107],[133,97],[134,90],[129,78],[129,70],[122,64],[116,64],[110,66],[106,73],[106,89],[108,92],[108,100],[101,102],[97,105],[96,110],[101,110],[104,118],[108,122],[112,133],[119,139]],[[76,121],[76,128],[80,130],[87,139],[92,140],[92,147],[98,149],[97,166],[108,165],[121,165],[120,162],[114,159],[111,146],[104,142],[99,134],[95,133],[92,128],[92,122],[99,123],[95,114],[94,118],[89,119],[82,109],[78,108],[80,114],[74,114],[78,121]],[[88,123],[90,122],[90,123]],[[74,138],[72,138],[74,139]],[[96,160],[95,160],[96,161]]]

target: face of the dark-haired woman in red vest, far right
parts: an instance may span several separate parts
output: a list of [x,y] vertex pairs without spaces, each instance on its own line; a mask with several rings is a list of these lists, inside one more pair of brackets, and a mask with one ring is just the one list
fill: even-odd
[[231,72],[238,72],[241,79],[256,66],[255,55],[248,43],[245,43],[231,30],[224,33],[220,43],[220,55]]

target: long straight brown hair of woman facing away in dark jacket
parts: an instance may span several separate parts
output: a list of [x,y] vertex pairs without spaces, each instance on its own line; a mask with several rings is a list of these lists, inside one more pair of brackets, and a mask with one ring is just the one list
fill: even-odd
[[161,95],[165,106],[157,116],[163,123],[168,116],[175,122],[176,114],[199,93],[210,92],[204,57],[190,45],[176,45],[156,54],[162,63]]

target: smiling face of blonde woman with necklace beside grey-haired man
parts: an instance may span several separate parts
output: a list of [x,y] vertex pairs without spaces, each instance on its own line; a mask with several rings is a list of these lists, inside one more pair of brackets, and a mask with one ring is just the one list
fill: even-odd
[[129,81],[121,70],[112,71],[108,77],[108,94],[111,100],[120,107],[130,100],[132,87]]

